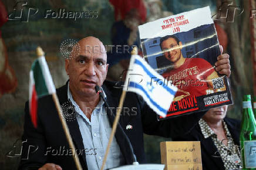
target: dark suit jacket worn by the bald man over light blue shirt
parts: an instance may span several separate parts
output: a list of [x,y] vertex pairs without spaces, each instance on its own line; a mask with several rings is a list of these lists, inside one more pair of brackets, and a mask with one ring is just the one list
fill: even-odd
[[[109,106],[118,107],[122,89],[116,89],[114,83],[110,81],[105,81],[102,88],[106,93]],[[60,105],[68,101],[67,91],[68,83],[57,90]],[[127,110],[126,113],[122,111],[119,120],[120,127],[117,128],[115,134],[126,164],[132,164],[133,157],[132,152],[128,148],[129,144],[122,131],[129,137],[137,161],[145,163],[143,132],[149,135],[160,135],[163,137],[174,137],[176,134],[185,134],[196,125],[198,120],[200,120],[205,113],[195,113],[166,121],[157,121],[156,113],[144,103],[141,97],[131,92],[126,93],[123,107],[137,108],[136,115],[134,115],[131,109],[129,113],[127,113]],[[114,116],[111,114],[110,109],[107,109],[107,116],[110,125],[112,125]],[[76,121],[76,119],[74,121],[67,121],[67,124],[76,149],[82,150],[83,140],[78,121]],[[132,125],[133,128],[126,130],[127,125]],[[72,156],[45,155],[48,147],[51,147],[51,149],[59,149],[60,146],[69,148],[51,96],[42,97],[38,101],[38,128],[34,128],[31,123],[28,102],[26,103],[22,140],[26,142],[23,142],[22,160],[19,169],[36,169],[46,163],[58,164],[62,166],[63,169],[75,169],[75,162]],[[35,147],[30,147],[29,149],[29,146]],[[36,149],[36,147],[38,148]],[[86,155],[79,155],[79,159],[83,169],[87,169]]]

